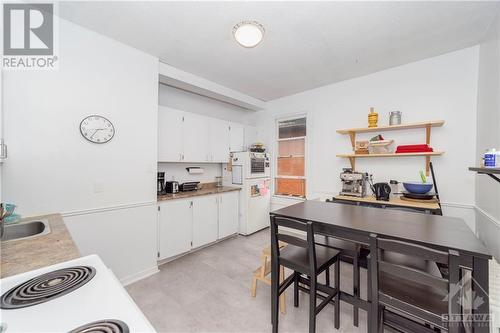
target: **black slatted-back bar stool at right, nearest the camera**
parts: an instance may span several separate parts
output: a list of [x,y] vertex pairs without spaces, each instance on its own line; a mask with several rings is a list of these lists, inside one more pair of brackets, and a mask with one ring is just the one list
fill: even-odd
[[[384,325],[399,331],[461,331],[460,321],[454,321],[462,313],[458,302],[458,252],[437,251],[373,234],[370,235],[370,249],[371,332],[382,332]],[[418,258],[426,263],[427,269],[415,268],[409,264],[410,260],[395,263],[386,259],[394,254]],[[448,277],[441,277],[439,272],[429,273],[435,263],[448,265]]]

